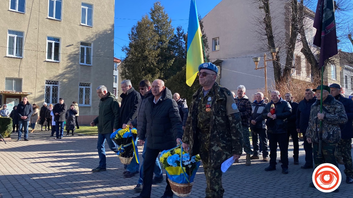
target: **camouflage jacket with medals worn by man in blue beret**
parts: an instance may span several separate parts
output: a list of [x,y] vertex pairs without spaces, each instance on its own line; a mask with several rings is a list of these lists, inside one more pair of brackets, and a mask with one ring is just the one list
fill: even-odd
[[[196,141],[196,129],[198,123],[199,94],[203,91],[199,88],[192,97],[189,115],[186,120],[183,142],[189,144],[190,156],[199,154],[199,145]],[[211,101],[210,120],[210,164],[209,168],[219,168],[222,162],[233,154],[241,154],[243,151],[243,135],[239,110],[234,102],[232,93],[217,83],[210,89],[214,96]]]

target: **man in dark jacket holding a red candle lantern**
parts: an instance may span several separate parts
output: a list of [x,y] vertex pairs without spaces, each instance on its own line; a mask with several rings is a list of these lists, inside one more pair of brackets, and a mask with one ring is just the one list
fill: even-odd
[[[281,98],[279,91],[271,92],[271,102],[265,106],[262,117],[267,119],[267,135],[270,141],[270,166],[265,171],[276,170],[277,143],[281,151],[282,173],[288,174],[287,119],[292,115],[292,107]],[[275,108],[272,115],[271,106]]]

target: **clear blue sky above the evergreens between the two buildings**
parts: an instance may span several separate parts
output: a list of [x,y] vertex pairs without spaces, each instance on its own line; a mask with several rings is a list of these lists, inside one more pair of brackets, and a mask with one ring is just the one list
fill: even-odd
[[[115,0],[115,19],[114,19],[114,57],[124,58],[125,53],[121,47],[128,44],[127,34],[131,27],[140,20],[144,14],[150,12],[155,0]],[[204,17],[221,0],[196,0],[197,12]],[[183,26],[187,31],[190,0],[161,0],[169,18],[172,19],[172,26]],[[124,41],[125,40],[125,41]]]

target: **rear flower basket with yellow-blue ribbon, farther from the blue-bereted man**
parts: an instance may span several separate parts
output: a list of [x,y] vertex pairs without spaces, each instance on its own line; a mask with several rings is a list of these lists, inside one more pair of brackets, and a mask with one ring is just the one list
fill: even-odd
[[130,129],[129,125],[127,125],[125,129],[118,129],[113,132],[110,138],[118,145],[116,155],[119,156],[121,163],[130,164],[133,156],[136,157],[136,161],[139,163],[136,146],[137,129]]

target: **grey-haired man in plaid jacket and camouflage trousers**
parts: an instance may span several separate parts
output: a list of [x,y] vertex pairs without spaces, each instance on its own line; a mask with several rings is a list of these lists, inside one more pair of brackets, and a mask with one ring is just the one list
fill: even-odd
[[250,116],[252,115],[252,107],[251,107],[251,101],[249,98],[245,95],[245,86],[244,85],[239,85],[238,86],[238,91],[237,91],[237,97],[235,97],[235,104],[237,104],[238,109],[239,109],[239,115],[241,118],[241,126],[243,128],[243,139],[244,139],[244,152],[246,153],[246,166],[251,165],[251,154],[253,154],[250,146],[250,132],[249,132],[249,121],[250,121]]

